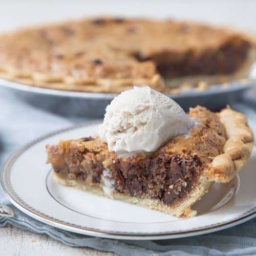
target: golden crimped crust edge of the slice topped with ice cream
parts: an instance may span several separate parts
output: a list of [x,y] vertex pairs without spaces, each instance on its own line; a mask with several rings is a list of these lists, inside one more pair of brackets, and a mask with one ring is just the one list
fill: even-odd
[[226,108],[218,115],[225,126],[228,139],[223,146],[223,154],[212,160],[205,177],[211,181],[229,182],[251,155],[253,133],[243,114]]

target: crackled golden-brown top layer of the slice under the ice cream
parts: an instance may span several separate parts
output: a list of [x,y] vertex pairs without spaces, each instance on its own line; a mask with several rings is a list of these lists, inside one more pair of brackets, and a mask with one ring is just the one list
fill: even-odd
[[[138,163],[148,157],[157,158],[167,155],[170,158],[179,156],[184,159],[191,159],[196,156],[204,165],[210,163],[216,156],[223,153],[223,145],[226,142],[225,127],[215,113],[201,106],[190,109],[188,115],[196,122],[196,125],[190,129],[189,135],[175,137],[154,153],[123,158],[121,161],[136,164],[136,162]],[[103,165],[108,167],[118,159],[115,153],[109,152],[106,143],[101,142],[98,137],[92,140],[85,138],[62,141],[58,146],[48,146],[47,151],[51,158],[50,162],[55,169],[61,169],[61,166],[57,166],[62,164],[59,162],[59,156],[67,153],[67,151],[71,152],[71,154],[66,154],[71,158],[68,162],[73,163],[76,163],[77,157],[81,156],[79,152],[86,153],[83,157],[88,166],[92,163],[103,162]],[[54,155],[57,156],[56,162]]]

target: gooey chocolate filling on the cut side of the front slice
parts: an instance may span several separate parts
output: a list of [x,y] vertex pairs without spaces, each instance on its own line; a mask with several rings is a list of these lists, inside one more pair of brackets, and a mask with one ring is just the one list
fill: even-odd
[[100,186],[110,197],[114,191],[126,195],[160,200],[168,206],[184,199],[196,185],[203,163],[197,155],[182,157],[166,152],[148,154],[142,159],[126,159],[90,162],[91,154],[72,150],[58,153],[58,147],[51,147],[49,161],[57,176],[65,180],[77,180],[80,184]]

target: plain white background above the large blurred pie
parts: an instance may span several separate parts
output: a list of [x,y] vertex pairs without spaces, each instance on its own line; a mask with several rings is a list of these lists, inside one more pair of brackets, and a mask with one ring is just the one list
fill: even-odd
[[104,14],[198,20],[256,32],[256,0],[0,0],[0,32]]

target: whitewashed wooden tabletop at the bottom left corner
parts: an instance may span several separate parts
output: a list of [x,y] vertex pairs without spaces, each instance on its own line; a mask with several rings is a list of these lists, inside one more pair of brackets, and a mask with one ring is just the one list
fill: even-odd
[[0,228],[0,255],[115,255],[89,248],[73,248],[55,241],[44,234],[35,234],[12,226]]

